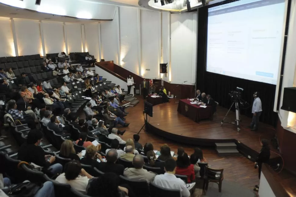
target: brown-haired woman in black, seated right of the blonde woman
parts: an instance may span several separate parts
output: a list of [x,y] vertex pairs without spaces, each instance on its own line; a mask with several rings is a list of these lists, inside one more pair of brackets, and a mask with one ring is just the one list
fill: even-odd
[[90,145],[86,148],[86,153],[84,158],[81,159],[81,163],[85,165],[91,165],[92,167],[96,167],[99,169],[99,162],[97,159],[100,160],[100,162],[104,162],[102,159],[102,156],[97,152],[97,148],[94,145]]

